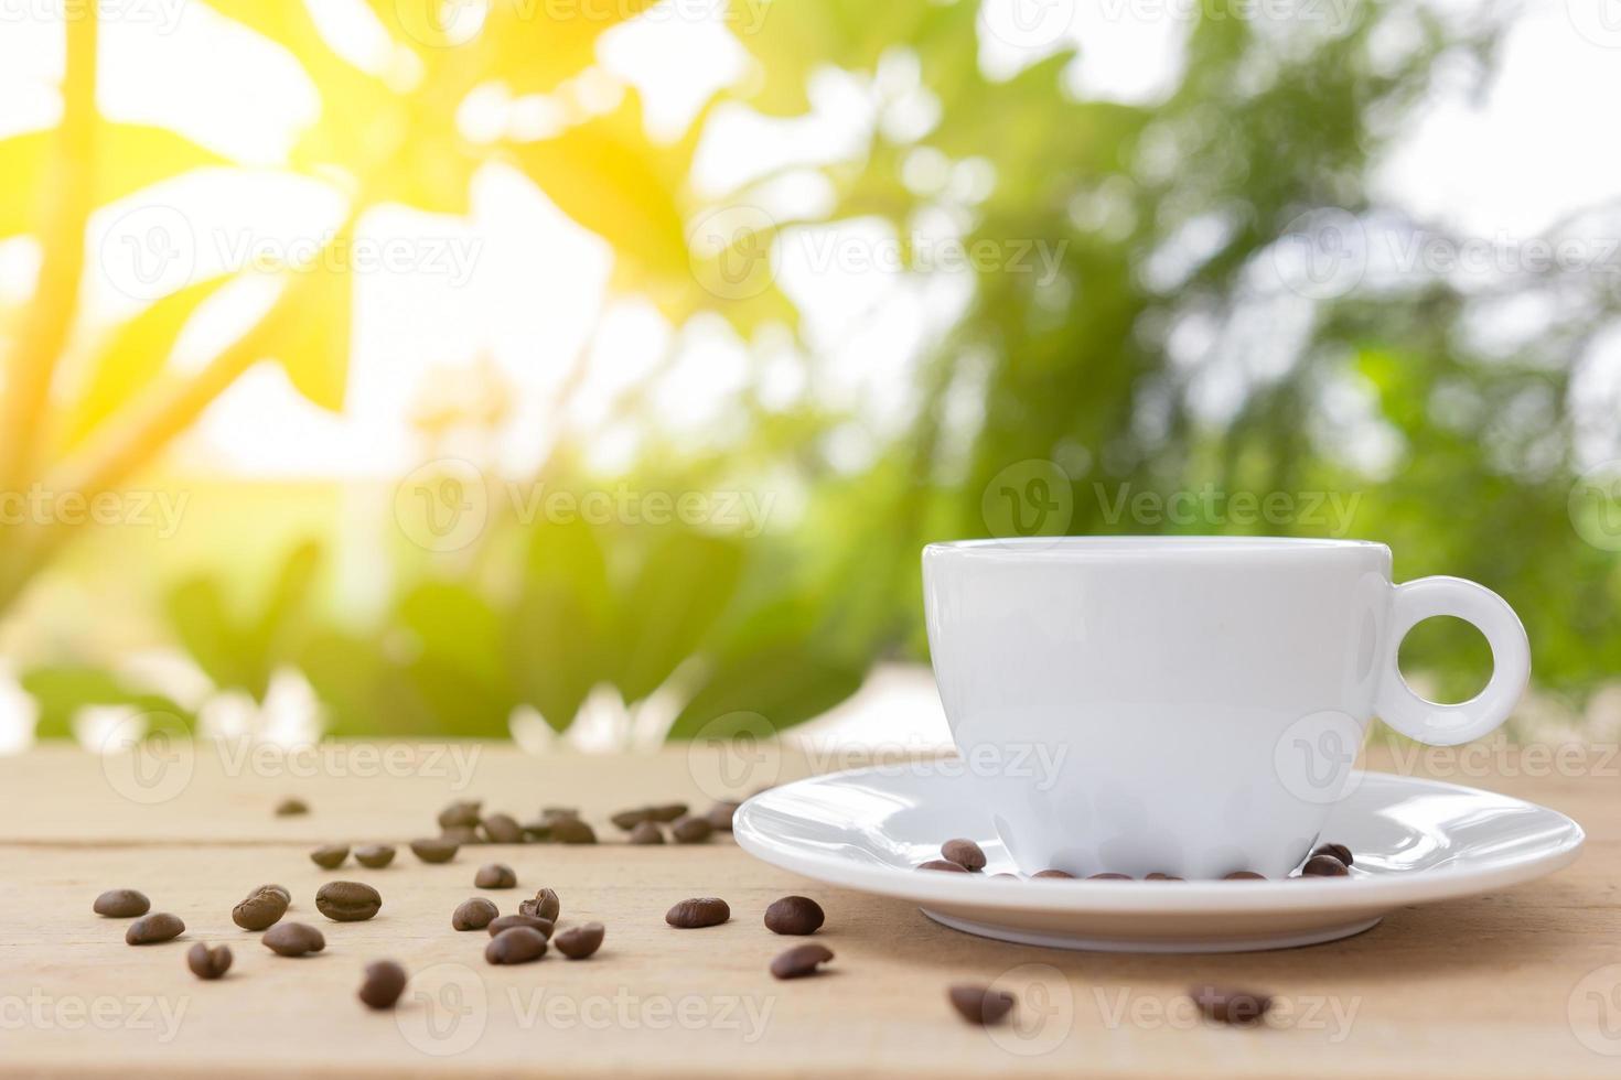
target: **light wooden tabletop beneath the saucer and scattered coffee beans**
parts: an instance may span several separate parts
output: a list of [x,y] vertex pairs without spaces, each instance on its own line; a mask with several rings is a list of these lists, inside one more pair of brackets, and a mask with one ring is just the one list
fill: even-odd
[[[1613,764],[1577,776],[1511,763],[1457,777],[1569,813],[1589,832],[1580,861],[1543,881],[1470,900],[1407,908],[1349,941],[1221,957],[1075,954],[953,933],[903,902],[827,889],[765,866],[729,839],[704,847],[627,847],[609,811],[657,800],[707,805],[713,789],[686,751],[648,756],[524,756],[507,746],[344,745],[319,758],[263,759],[240,748],[170,748],[146,787],[73,748],[0,759],[0,1070],[26,1074],[277,1072],[415,1075],[545,1072],[984,1077],[1044,1075],[1561,1075],[1621,1074],[1621,813]],[[392,759],[391,759],[392,756]],[[1501,763],[1499,763],[1501,764]],[[465,769],[465,776],[462,774]],[[783,777],[806,764],[788,758]],[[1558,772],[1553,769],[1551,772]],[[1566,769],[1568,772],[1571,769]],[[177,780],[177,777],[180,777]],[[747,777],[741,777],[744,782]],[[277,818],[284,795],[311,813]],[[613,844],[472,847],[425,866],[402,850],[381,871],[321,871],[327,840],[436,832],[451,798],[533,818],[577,805]],[[540,886],[567,920],[608,926],[587,962],[485,965],[481,933],[452,933],[475,895],[475,868],[499,858],[520,889]],[[327,923],[323,881],[373,882],[383,913]],[[318,957],[272,955],[230,908],[277,881],[298,918],[321,926]],[[91,913],[102,889],[128,886],[186,921],[178,941],[130,947],[126,923]],[[825,976],[780,983],[767,963],[794,939],[760,925],[788,892],[822,902]],[[733,921],[676,931],[676,900],[713,894]],[[225,941],[235,967],[201,983],[185,967],[196,941]],[[355,999],[368,960],[415,973],[396,1012]],[[1039,967],[1021,967],[1039,965]],[[1023,1028],[995,1033],[947,1006],[955,981],[1010,970],[1039,999]],[[1597,975],[1593,975],[1597,972]],[[1585,980],[1585,981],[1584,981]],[[1253,986],[1282,1007],[1260,1030],[1196,1022],[1198,981]],[[1608,997],[1605,997],[1608,996]],[[1608,1007],[1608,1015],[1602,1012]],[[1574,1012],[1572,1012],[1574,1010]],[[1608,1023],[1608,1027],[1605,1027]],[[1597,1049],[1593,1049],[1597,1046]],[[1608,1051],[1608,1052],[1603,1052]]]

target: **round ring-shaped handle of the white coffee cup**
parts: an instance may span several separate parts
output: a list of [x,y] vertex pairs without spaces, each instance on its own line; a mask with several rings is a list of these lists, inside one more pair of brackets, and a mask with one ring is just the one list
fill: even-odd
[[[1485,690],[1461,704],[1420,698],[1402,678],[1397,664],[1402,638],[1433,615],[1456,615],[1472,623],[1491,646],[1491,680]],[[1397,732],[1433,746],[1456,746],[1480,738],[1508,719],[1529,680],[1530,641],[1519,615],[1501,596],[1462,578],[1418,578],[1396,586],[1376,709]]]

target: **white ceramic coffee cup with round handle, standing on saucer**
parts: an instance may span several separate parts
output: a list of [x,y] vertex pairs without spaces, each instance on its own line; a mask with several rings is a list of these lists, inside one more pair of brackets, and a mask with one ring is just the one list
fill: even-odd
[[[1459,578],[1391,585],[1384,544],[964,541],[927,546],[922,573],[952,735],[1026,873],[1281,878],[1360,776],[1371,717],[1462,743],[1496,729],[1530,675],[1503,597]],[[1491,644],[1491,680],[1462,704],[1420,698],[1397,670],[1431,615]]]

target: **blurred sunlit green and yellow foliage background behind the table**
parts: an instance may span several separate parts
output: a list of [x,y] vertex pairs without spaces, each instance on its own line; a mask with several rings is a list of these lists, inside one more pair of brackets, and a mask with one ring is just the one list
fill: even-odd
[[6,0],[0,745],[893,733],[1031,533],[1386,541],[1621,737],[1618,99],[1605,0]]

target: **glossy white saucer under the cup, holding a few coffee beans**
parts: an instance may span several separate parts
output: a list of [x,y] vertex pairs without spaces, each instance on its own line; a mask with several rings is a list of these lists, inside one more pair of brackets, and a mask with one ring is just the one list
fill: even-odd
[[[926,767],[854,769],[755,795],[733,832],[752,855],[815,881],[911,900],[984,938],[1110,952],[1242,952],[1334,941],[1388,912],[1553,873],[1582,829],[1561,813],[1456,784],[1368,772],[1323,839],[1355,855],[1350,878],[1289,881],[992,879],[1015,871],[968,779]],[[919,871],[953,837],[977,840],[981,874]]]

